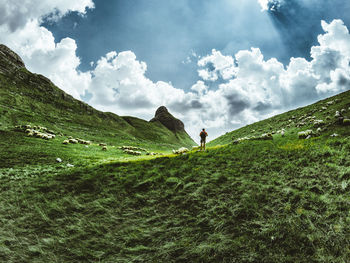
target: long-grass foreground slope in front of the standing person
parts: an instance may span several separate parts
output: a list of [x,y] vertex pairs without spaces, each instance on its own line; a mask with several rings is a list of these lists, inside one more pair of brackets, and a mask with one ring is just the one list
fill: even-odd
[[[348,93],[340,97],[327,114],[350,106]],[[269,119],[253,127],[280,125]],[[119,162],[96,150],[111,159],[2,169],[0,260],[347,262],[349,126],[329,123],[310,140],[297,131],[149,161]]]

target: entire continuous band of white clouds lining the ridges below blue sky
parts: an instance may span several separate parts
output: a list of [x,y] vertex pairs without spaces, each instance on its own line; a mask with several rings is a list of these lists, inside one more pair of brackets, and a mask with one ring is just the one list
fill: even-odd
[[[350,35],[341,20],[322,21],[324,34],[311,49],[311,61],[291,58],[288,65],[265,60],[259,48],[223,55],[212,50],[199,58],[201,78],[190,91],[146,77],[147,64],[132,51],[112,51],[80,72],[77,45],[59,43],[40,26],[44,16],[60,17],[69,11],[84,13],[91,0],[25,1],[19,5],[0,0],[0,42],[16,51],[27,68],[49,77],[76,98],[89,92],[90,104],[100,110],[144,119],[165,105],[184,121],[194,138],[205,127],[211,138],[286,109],[350,89]],[[271,0],[259,0],[268,7]],[[30,4],[29,4],[30,3]],[[32,4],[37,8],[31,8]],[[56,10],[56,11],[55,11]],[[16,21],[16,18],[20,18]]]

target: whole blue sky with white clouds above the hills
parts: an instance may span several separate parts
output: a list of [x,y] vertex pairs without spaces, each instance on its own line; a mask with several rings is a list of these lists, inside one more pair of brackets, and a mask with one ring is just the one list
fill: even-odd
[[[15,3],[17,2],[17,3]],[[0,43],[93,107],[198,141],[350,89],[348,0],[0,0]]]

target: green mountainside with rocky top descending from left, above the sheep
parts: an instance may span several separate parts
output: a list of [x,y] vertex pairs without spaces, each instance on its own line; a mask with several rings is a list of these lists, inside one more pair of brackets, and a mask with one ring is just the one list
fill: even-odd
[[74,99],[48,78],[29,72],[16,53],[0,45],[0,130],[20,124],[117,145],[141,142],[169,149],[196,144],[183,125],[174,130],[163,122],[101,112]]

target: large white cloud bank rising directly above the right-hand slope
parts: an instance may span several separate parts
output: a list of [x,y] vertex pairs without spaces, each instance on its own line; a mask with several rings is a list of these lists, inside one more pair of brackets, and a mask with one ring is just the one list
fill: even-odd
[[291,58],[285,67],[274,58],[265,60],[258,48],[235,56],[213,50],[203,57],[198,65],[211,63],[212,76],[228,68],[233,73],[216,90],[208,90],[205,83],[213,78],[199,71],[204,82],[197,82],[192,90],[200,94],[198,102],[205,107],[202,123],[218,132],[349,90],[349,31],[341,20],[321,24],[325,33],[319,35],[319,45],[312,47],[311,61]]

